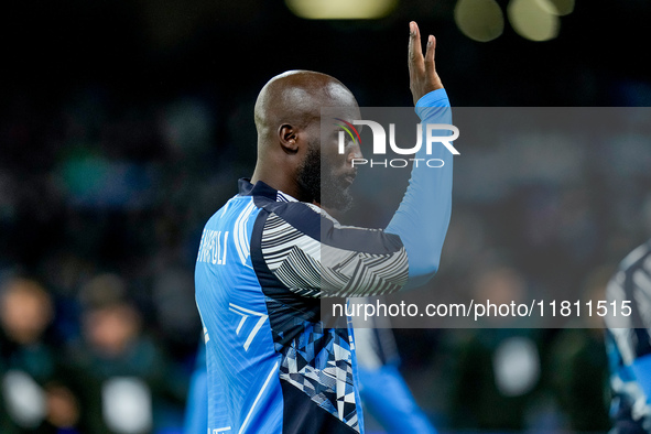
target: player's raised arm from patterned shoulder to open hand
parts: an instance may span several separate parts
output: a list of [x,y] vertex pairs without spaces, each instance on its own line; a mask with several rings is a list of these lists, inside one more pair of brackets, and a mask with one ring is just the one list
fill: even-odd
[[[451,123],[449,102],[434,66],[434,36],[425,55],[411,24],[409,69],[424,134],[430,123]],[[427,148],[432,153],[427,154]],[[452,208],[452,153],[441,143],[421,147],[406,193],[386,230],[339,225],[316,205],[273,203],[258,217],[260,263],[292,292],[308,297],[367,296],[425,283],[438,268]],[[258,249],[252,249],[258,250]]]

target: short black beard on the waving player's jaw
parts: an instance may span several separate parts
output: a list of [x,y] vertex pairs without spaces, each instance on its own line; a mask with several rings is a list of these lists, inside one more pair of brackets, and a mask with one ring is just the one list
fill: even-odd
[[352,206],[352,196],[343,180],[338,180],[330,166],[321,164],[321,149],[311,145],[299,169],[299,186],[306,197],[311,197],[326,209],[341,213]]

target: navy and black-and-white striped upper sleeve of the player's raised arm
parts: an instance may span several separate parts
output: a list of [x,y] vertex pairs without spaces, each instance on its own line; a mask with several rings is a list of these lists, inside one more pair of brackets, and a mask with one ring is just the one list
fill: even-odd
[[406,283],[406,251],[397,235],[341,226],[325,210],[301,202],[276,203],[259,218],[264,263],[295,294],[378,295]]

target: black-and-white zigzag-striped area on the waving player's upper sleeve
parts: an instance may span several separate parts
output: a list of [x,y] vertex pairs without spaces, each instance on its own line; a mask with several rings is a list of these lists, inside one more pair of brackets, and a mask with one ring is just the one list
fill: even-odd
[[367,296],[404,286],[409,278],[404,247],[391,253],[367,253],[364,243],[358,247],[348,250],[322,243],[275,213],[269,214],[262,232],[269,269],[299,295]]

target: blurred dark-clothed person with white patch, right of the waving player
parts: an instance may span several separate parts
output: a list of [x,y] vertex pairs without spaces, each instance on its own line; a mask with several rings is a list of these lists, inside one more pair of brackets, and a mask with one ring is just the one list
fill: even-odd
[[[510,267],[479,273],[475,300],[519,303],[527,291],[523,276]],[[449,330],[454,356],[448,367],[451,422],[456,428],[524,430],[541,380],[540,330],[512,328],[521,319],[487,317],[487,328]],[[481,326],[481,324],[479,324]]]

